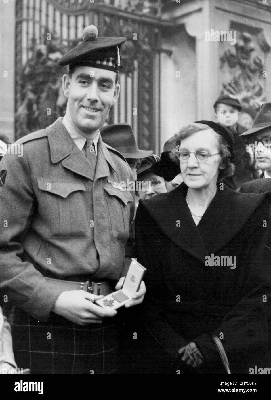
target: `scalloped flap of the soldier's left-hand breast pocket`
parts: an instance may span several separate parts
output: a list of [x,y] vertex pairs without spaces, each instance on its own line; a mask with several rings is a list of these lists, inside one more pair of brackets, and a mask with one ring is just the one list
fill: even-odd
[[79,182],[70,182],[65,180],[57,180],[57,179],[46,179],[46,178],[37,178],[38,180],[38,188],[40,190],[44,190],[48,193],[57,194],[63,198],[69,196],[70,193],[76,192],[77,190],[86,191],[85,186]]

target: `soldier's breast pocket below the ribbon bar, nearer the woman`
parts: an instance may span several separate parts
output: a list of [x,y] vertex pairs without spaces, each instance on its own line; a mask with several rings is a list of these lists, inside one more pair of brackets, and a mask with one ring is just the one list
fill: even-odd
[[130,206],[133,196],[130,192],[122,192],[109,186],[105,186],[106,202],[110,216],[112,235],[114,239],[126,243],[130,228]]

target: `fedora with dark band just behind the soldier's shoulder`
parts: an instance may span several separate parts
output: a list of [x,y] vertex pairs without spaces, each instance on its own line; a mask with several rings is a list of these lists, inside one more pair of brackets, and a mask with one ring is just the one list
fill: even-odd
[[100,128],[103,142],[108,144],[125,158],[145,158],[150,156],[152,150],[139,150],[132,127],[129,124],[114,124]]

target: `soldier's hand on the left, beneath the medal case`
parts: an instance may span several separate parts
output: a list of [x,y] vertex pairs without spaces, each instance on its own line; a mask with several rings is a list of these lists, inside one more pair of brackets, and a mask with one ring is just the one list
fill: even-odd
[[69,290],[58,296],[52,311],[78,325],[100,324],[103,318],[117,314],[116,310],[104,310],[94,304],[102,297],[84,290]]

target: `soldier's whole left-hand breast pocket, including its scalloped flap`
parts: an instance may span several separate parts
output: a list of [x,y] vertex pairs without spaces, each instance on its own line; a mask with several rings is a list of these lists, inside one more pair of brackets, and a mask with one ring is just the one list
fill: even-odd
[[38,178],[39,214],[45,236],[86,238],[89,236],[85,186],[80,182]]

